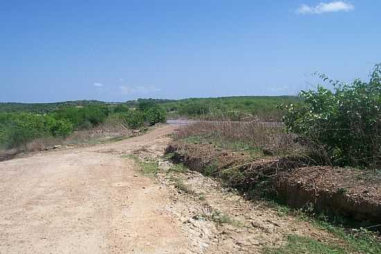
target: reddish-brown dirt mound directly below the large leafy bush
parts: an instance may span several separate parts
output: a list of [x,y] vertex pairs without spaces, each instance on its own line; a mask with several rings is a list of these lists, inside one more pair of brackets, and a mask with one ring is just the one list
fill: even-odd
[[379,223],[381,179],[370,172],[339,167],[302,167],[276,179],[278,196],[293,207],[306,204],[319,212]]

